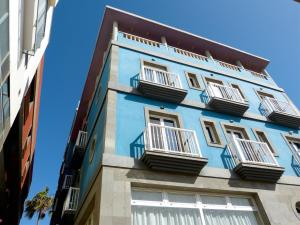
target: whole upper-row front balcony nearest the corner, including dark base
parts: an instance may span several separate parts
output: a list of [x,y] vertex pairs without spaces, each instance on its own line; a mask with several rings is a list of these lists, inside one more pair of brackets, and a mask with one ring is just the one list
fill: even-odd
[[187,95],[178,74],[147,66],[142,67],[138,89],[148,97],[176,103],[181,102]]

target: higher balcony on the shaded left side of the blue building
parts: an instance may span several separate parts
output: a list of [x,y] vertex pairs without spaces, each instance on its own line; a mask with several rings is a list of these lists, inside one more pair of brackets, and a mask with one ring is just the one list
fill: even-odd
[[76,139],[76,143],[73,148],[73,155],[71,160],[71,165],[73,169],[79,169],[82,164],[82,160],[85,153],[87,142],[87,132],[79,131]]

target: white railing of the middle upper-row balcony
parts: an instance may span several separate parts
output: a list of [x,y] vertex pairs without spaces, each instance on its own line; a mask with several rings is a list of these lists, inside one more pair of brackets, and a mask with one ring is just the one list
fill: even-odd
[[206,90],[210,98],[222,98],[234,102],[246,103],[239,90],[233,87],[209,83]]

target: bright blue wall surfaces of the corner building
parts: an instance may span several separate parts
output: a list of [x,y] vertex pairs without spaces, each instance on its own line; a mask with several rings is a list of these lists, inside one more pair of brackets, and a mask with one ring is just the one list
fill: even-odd
[[[149,50],[153,53],[161,53],[166,56],[175,56],[174,53],[170,53],[164,47],[151,47],[140,44],[134,41],[127,41],[122,38],[122,35],[118,36],[118,42],[121,44],[131,45],[132,47],[139,47],[141,50]],[[170,50],[171,51],[171,50]],[[155,54],[146,54],[144,52],[135,51],[125,47],[119,47],[118,51],[118,77],[117,84],[136,88],[139,82],[139,76],[141,72],[141,60],[150,61],[153,63],[159,63],[167,66],[170,72],[176,73],[180,76],[183,88],[188,91],[186,100],[193,100],[205,103],[205,84],[204,77],[211,77],[214,79],[222,80],[224,83],[238,84],[242,89],[246,99],[249,102],[249,109],[247,112],[251,112],[255,115],[262,115],[260,111],[260,99],[255,90],[263,90],[276,97],[276,99],[287,101],[284,92],[274,83],[274,81],[268,77],[268,80],[262,78],[256,78],[250,74],[250,72],[242,71],[230,73],[231,77],[222,74],[223,68],[216,65],[214,62],[207,62],[207,64],[214,70],[219,72],[212,72],[210,70],[201,69],[201,64],[197,64],[197,68],[189,66],[181,62],[170,61],[165,58],[159,58],[154,56]],[[178,56],[177,56],[178,57]],[[179,59],[182,57],[179,56]],[[184,60],[189,61],[189,58]],[[105,98],[104,94],[108,87],[108,65],[109,57],[102,71],[100,82],[97,86],[95,96],[91,105],[90,113],[87,119],[87,132],[89,135],[89,142],[87,144],[87,152],[85,154],[83,165],[81,168],[81,193],[86,192],[86,187],[90,182],[90,178],[96,172],[97,164],[101,163],[101,157],[103,152],[103,124],[105,118],[102,115],[102,111],[105,110]],[[195,90],[188,86],[185,72],[192,72],[197,74],[198,80],[201,86],[201,90]],[[230,72],[230,71],[229,71]],[[241,78],[247,78],[250,81],[241,80]],[[99,87],[101,87],[101,94],[99,95]],[[100,109],[103,105],[103,108]],[[282,134],[292,131],[294,134],[300,134],[298,129],[284,127],[277,125],[273,122],[265,122],[255,119],[249,119],[245,117],[237,117],[229,114],[219,113],[213,110],[198,109],[192,106],[186,106],[182,104],[174,104],[166,101],[160,101],[157,99],[147,98],[145,96],[137,96],[135,94],[117,92],[116,102],[116,143],[115,154],[132,157],[139,159],[144,151],[143,132],[146,127],[145,107],[160,109],[164,108],[167,112],[177,112],[180,114],[183,120],[184,128],[195,130],[198,141],[200,143],[200,149],[203,156],[208,158],[209,167],[232,169],[230,163],[230,154],[227,150],[227,145],[224,148],[208,146],[203,130],[201,128],[200,119],[214,120],[217,124],[217,131],[222,141],[227,144],[228,140],[225,137],[225,133],[221,128],[221,123],[232,123],[232,125],[242,125],[247,129],[250,134],[251,140],[257,140],[252,128],[263,130],[268,139],[272,142],[273,146],[276,146],[276,160],[280,166],[285,168],[284,175],[297,176],[298,167],[293,162],[292,152],[285,142]],[[100,115],[99,115],[100,114]],[[99,117],[99,118],[98,118]],[[98,120],[97,120],[98,119]],[[106,118],[109,119],[109,118]],[[97,137],[100,139],[100,143],[97,145],[96,154],[92,164],[89,164],[89,149],[91,145],[92,136],[97,133]],[[99,166],[99,165],[98,165]],[[82,194],[81,194],[82,195]]]

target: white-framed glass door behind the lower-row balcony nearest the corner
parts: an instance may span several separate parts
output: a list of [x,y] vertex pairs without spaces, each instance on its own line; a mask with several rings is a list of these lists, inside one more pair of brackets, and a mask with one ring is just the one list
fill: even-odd
[[150,116],[151,143],[154,149],[168,152],[182,152],[178,124],[175,119]]

